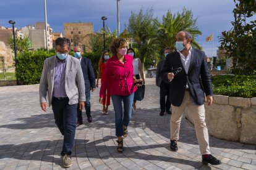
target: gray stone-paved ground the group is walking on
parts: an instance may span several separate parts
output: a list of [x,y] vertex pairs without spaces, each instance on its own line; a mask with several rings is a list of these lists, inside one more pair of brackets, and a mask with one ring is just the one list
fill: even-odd
[[[178,152],[169,150],[170,115],[159,116],[159,89],[146,81],[145,99],[137,102],[124,152],[117,153],[113,105],[101,114],[98,92],[92,94],[93,122],[85,113],[77,128],[69,169],[256,169],[255,145],[210,137],[211,152],[223,164],[201,163],[194,127],[182,119]],[[252,129],[255,131],[255,129]],[[62,169],[62,139],[51,108],[39,105],[38,84],[0,87],[0,169]]]

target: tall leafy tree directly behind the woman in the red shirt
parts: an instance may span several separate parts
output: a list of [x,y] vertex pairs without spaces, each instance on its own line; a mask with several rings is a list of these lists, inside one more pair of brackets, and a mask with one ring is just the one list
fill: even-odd
[[[147,62],[152,62],[156,57],[155,51],[158,50],[158,44],[151,41],[152,38],[156,37],[157,31],[152,19],[153,9],[148,9],[144,12],[142,8],[138,14],[131,12],[129,24],[127,25],[128,37],[135,42],[139,51],[138,57],[142,62],[145,62],[146,59]],[[153,65],[153,62],[151,65]]]

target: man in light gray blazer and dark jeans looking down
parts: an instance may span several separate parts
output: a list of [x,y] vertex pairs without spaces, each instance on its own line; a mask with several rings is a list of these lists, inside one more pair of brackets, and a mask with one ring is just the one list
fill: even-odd
[[70,40],[55,41],[57,54],[45,60],[40,79],[40,105],[46,111],[46,95],[53,108],[55,123],[64,136],[61,151],[65,168],[72,166],[70,159],[74,146],[77,104],[85,106],[85,83],[79,60],[69,55]]

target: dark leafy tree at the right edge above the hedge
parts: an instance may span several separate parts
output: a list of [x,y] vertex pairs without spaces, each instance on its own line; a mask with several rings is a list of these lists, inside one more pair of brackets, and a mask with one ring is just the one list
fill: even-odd
[[[233,59],[232,71],[239,75],[252,75],[256,70],[256,3],[255,0],[234,0],[233,28],[223,31],[220,49],[226,49]],[[254,17],[252,20],[250,17]]]

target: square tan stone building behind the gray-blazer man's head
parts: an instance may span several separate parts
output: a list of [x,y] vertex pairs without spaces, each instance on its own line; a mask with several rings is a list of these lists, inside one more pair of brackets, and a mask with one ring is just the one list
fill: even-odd
[[91,51],[90,34],[93,34],[93,23],[64,23],[64,36],[70,39],[71,48],[78,45],[84,51]]

